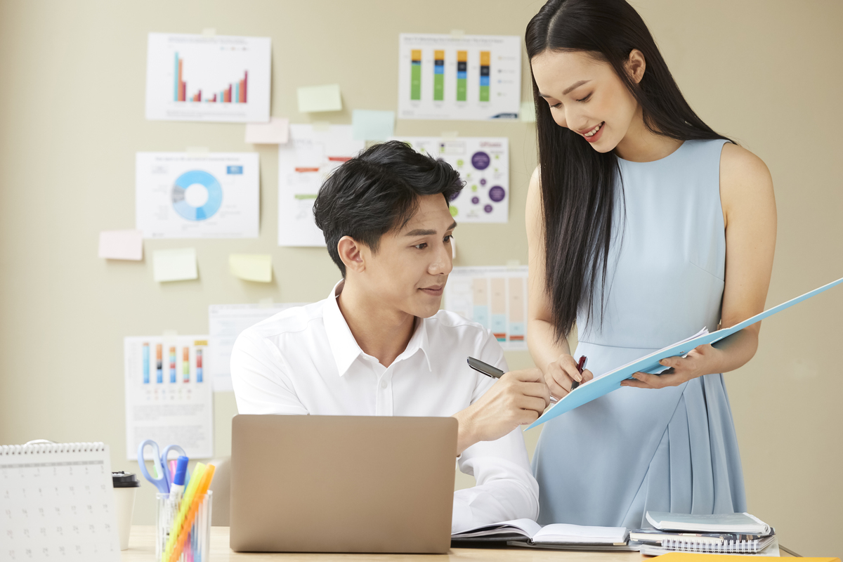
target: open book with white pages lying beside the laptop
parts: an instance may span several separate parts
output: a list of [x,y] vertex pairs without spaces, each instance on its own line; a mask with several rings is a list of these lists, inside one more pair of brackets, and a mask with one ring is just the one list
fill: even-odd
[[530,544],[625,545],[625,527],[583,527],[553,523],[542,527],[531,519],[516,519],[475,527],[451,535],[451,540],[526,541]]

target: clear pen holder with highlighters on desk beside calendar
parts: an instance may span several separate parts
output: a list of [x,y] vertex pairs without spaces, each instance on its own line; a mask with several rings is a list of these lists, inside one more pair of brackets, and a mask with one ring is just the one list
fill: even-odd
[[[197,496],[195,499],[196,513],[193,517],[193,522],[189,527],[184,546],[181,549],[181,554],[178,562],[202,562],[208,559],[210,554],[211,543],[211,501],[213,492],[208,491],[207,494]],[[158,562],[169,562],[169,558],[164,559],[167,554],[167,545],[172,533],[179,533],[178,538],[185,530],[185,523],[189,520],[191,506],[186,506],[185,517],[181,522],[180,529],[174,527],[178,519],[179,512],[182,506],[180,501],[170,500],[169,494],[156,494],[156,501],[158,502],[158,509],[155,511],[155,559]],[[173,545],[174,551],[178,549],[178,541],[175,540]]]

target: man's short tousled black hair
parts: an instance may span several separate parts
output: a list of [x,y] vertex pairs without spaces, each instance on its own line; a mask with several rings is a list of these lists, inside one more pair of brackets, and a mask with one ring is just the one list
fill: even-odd
[[316,226],[345,277],[346,265],[336,248],[340,238],[350,236],[377,253],[380,238],[411,219],[419,195],[441,193],[449,204],[463,185],[459,172],[447,162],[417,153],[404,142],[383,142],[325,179],[314,202]]

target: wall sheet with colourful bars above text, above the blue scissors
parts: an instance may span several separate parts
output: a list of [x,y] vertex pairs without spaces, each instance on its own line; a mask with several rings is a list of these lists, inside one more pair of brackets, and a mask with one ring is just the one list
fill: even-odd
[[126,458],[154,439],[191,458],[213,456],[213,403],[207,335],[129,337],[123,341]]

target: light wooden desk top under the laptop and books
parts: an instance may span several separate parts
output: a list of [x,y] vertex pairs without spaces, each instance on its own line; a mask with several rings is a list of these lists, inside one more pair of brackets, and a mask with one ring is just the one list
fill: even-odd
[[[211,527],[211,558],[208,562],[229,560],[286,560],[287,562],[352,562],[357,560],[379,560],[381,562],[422,562],[438,560],[445,562],[545,562],[545,560],[566,560],[566,562],[640,562],[643,557],[636,552],[571,552],[563,550],[535,550],[508,547],[506,549],[451,549],[448,554],[310,554],[310,553],[239,553],[228,548],[228,527]],[[123,562],[155,562],[155,527],[132,527],[129,549],[121,553]]]

